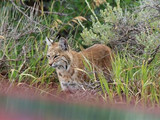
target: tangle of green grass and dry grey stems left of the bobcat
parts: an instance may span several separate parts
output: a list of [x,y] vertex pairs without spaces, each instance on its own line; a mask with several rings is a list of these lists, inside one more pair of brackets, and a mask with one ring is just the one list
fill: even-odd
[[[29,17],[35,19],[32,13]],[[10,81],[50,83],[54,70],[46,63],[45,32],[41,26],[34,25],[10,4],[1,7],[0,18],[0,73]]]

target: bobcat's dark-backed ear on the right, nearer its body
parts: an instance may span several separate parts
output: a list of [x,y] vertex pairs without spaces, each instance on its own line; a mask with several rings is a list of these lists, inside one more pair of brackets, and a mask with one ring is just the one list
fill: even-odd
[[61,37],[59,39],[59,48],[61,48],[64,51],[68,50],[68,48],[69,48],[68,43],[67,43],[67,39],[65,39],[64,37]]

